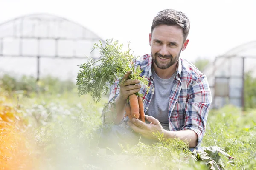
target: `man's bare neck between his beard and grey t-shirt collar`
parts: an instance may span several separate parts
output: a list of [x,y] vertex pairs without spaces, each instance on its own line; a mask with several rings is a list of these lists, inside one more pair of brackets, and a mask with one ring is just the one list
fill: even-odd
[[158,68],[157,65],[155,65],[154,62],[152,64],[153,64],[153,68],[154,68],[154,71],[156,72],[157,76],[159,76],[162,79],[169,79],[175,73],[177,63],[178,63],[178,61],[175,62],[174,65],[172,65],[171,67],[169,67],[165,70]]

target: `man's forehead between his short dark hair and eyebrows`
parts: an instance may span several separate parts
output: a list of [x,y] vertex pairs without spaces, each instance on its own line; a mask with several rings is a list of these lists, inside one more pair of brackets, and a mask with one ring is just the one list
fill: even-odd
[[152,39],[162,41],[183,41],[183,30],[180,26],[160,25],[154,28],[152,32]]

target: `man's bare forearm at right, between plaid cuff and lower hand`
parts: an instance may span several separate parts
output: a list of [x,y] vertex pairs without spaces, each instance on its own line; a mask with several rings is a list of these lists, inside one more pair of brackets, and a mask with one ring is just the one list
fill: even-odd
[[188,142],[189,147],[196,147],[198,136],[193,130],[180,130],[180,131],[168,131],[164,130],[164,136],[166,138],[178,138],[180,140],[183,140],[184,142]]

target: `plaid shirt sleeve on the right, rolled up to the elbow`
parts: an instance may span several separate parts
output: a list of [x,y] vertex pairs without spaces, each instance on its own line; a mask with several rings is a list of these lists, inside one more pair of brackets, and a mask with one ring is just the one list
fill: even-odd
[[198,135],[196,147],[201,145],[205,130],[212,94],[205,75],[201,75],[188,89],[185,107],[185,126],[183,129],[195,131]]

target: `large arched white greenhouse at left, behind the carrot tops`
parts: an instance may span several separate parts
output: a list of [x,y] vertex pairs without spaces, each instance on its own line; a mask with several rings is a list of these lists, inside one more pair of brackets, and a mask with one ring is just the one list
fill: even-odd
[[32,14],[0,24],[0,74],[47,75],[76,81],[78,65],[96,59],[93,31],[49,14]]

